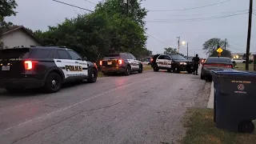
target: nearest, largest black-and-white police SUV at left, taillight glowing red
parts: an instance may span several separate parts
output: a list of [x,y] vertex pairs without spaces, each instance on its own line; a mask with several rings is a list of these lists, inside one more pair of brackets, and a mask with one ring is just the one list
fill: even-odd
[[54,93],[62,83],[96,82],[97,66],[63,46],[0,50],[0,87],[6,90],[44,88]]

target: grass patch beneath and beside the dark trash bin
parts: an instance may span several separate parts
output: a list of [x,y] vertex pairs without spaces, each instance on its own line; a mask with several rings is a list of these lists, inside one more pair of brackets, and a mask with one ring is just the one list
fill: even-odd
[[253,144],[256,134],[238,134],[220,130],[214,124],[214,110],[190,109],[184,126],[188,129],[183,144]]

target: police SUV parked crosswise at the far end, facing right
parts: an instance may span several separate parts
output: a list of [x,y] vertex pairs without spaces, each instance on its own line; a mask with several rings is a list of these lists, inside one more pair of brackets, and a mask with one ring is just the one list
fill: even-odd
[[193,63],[181,54],[156,54],[153,57],[151,67],[154,71],[167,70],[174,73],[187,71],[189,74],[193,72]]

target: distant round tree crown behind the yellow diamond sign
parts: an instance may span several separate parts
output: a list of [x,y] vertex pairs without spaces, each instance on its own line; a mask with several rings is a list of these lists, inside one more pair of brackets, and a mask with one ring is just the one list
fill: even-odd
[[[206,54],[212,54],[219,47],[225,46],[225,40],[222,40],[220,38],[210,38],[202,46],[203,46],[202,50],[206,50]],[[226,42],[226,47],[229,47],[228,42]]]

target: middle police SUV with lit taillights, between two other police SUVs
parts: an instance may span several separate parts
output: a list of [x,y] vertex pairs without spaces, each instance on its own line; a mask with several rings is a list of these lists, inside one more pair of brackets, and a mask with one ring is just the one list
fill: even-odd
[[131,72],[138,71],[142,73],[142,62],[138,61],[133,54],[107,54],[100,61],[100,66],[103,74],[121,73],[130,75]]

